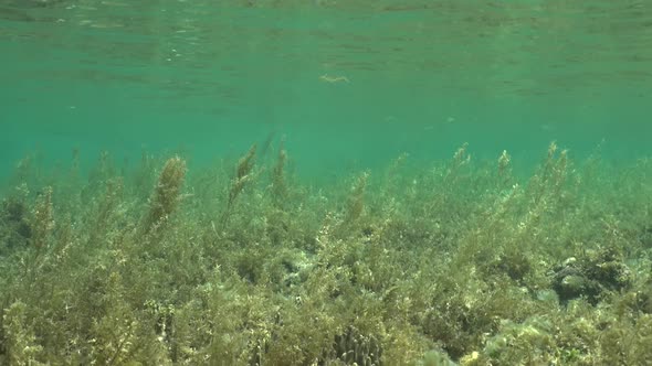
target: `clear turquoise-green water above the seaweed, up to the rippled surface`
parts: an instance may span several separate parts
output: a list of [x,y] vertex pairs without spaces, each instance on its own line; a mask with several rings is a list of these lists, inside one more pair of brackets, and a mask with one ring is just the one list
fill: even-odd
[[[271,133],[303,174],[556,140],[650,153],[644,1],[0,2],[0,166],[194,162]],[[525,158],[524,158],[525,157]]]

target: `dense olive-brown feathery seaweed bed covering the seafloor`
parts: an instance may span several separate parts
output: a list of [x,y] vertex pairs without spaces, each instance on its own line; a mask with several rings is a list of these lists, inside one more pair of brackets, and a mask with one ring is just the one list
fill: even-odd
[[466,146],[305,184],[29,157],[0,200],[1,365],[648,365],[652,161]]

